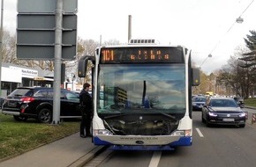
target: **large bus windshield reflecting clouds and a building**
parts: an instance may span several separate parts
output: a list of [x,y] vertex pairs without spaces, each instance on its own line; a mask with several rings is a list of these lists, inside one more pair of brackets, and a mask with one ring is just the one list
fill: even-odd
[[185,113],[184,64],[99,65],[97,112]]

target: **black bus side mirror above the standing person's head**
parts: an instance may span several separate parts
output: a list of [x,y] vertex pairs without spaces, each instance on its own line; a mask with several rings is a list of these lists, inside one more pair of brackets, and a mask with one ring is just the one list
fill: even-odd
[[91,55],[83,55],[79,60],[78,76],[86,77],[87,76],[87,62],[88,60],[94,62],[95,58]]

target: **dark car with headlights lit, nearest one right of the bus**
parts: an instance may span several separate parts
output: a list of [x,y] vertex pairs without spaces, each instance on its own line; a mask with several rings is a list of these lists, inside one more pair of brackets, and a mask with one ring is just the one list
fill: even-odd
[[245,127],[246,113],[234,98],[207,98],[201,120],[207,127],[212,124]]

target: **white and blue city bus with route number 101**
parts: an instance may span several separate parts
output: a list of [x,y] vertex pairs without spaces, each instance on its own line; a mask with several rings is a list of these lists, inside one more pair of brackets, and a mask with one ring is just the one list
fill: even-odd
[[200,84],[200,69],[192,68],[189,49],[130,40],[82,56],[79,77],[87,76],[87,70],[92,74],[95,145],[124,150],[192,145],[192,86]]

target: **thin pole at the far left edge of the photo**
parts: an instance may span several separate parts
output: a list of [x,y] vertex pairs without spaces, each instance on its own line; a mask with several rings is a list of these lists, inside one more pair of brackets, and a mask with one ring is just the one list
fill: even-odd
[[0,27],[0,96],[2,96],[2,61],[3,61],[3,20],[4,20],[4,0],[1,2],[1,27]]

